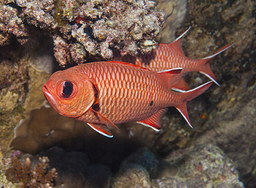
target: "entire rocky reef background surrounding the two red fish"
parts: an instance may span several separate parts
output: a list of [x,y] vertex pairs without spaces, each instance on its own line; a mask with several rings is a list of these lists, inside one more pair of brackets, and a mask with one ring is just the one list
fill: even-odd
[[[118,2],[134,23],[107,1],[0,2],[1,187],[255,187],[255,2]],[[109,139],[47,105],[41,86],[61,66],[146,53],[189,26],[190,58],[235,43],[210,62],[221,87],[188,103],[193,129],[170,108],[161,132],[127,123]]]

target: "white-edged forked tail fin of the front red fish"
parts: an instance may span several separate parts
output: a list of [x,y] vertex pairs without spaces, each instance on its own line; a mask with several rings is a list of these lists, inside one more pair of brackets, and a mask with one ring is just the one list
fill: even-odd
[[188,125],[192,127],[191,122],[189,120],[189,116],[188,116],[188,110],[186,107],[186,103],[190,100],[192,100],[193,98],[198,97],[199,95],[201,95],[202,93],[205,93],[206,90],[208,90],[208,88],[211,86],[211,84],[213,83],[213,81],[209,81],[201,86],[198,86],[197,88],[193,89],[193,90],[188,90],[184,93],[180,93],[181,97],[183,97],[183,103],[179,104],[177,108],[177,110],[179,110],[179,112],[181,113],[181,115],[183,115],[184,119],[186,120],[186,122],[188,122]]

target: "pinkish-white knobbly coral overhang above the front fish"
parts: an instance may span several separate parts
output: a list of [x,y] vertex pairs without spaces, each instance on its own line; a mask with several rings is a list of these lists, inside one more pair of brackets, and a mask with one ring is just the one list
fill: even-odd
[[122,55],[151,51],[164,13],[156,10],[154,1],[44,0],[7,2],[0,18],[1,45],[8,44],[11,35],[24,44],[35,35],[48,34],[56,60],[66,66],[84,63],[90,56],[110,59],[114,49]]

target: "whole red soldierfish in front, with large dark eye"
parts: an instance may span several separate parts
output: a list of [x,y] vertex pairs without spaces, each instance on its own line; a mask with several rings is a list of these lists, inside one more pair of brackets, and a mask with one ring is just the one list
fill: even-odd
[[204,93],[212,81],[184,93],[171,91],[181,68],[155,72],[120,61],[95,62],[57,71],[42,88],[61,115],[87,122],[113,137],[114,123],[136,121],[160,130],[167,107],[176,107],[191,126],[186,102]]

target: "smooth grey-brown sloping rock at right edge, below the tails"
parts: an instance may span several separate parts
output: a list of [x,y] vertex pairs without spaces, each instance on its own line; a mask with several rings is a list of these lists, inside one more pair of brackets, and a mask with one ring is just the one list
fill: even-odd
[[195,144],[218,145],[232,157],[240,179],[248,185],[255,183],[253,167],[256,163],[256,148],[251,144],[256,139],[256,84],[247,88],[252,75],[251,71],[242,76],[237,90],[218,104],[218,111],[213,110],[195,140]]

